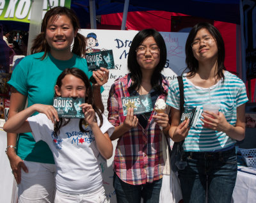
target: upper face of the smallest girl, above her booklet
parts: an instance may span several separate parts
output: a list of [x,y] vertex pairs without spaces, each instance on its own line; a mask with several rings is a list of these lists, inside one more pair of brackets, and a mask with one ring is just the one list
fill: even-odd
[[61,80],[61,87],[54,87],[57,96],[85,98],[86,87],[83,80],[78,77],[68,74]]

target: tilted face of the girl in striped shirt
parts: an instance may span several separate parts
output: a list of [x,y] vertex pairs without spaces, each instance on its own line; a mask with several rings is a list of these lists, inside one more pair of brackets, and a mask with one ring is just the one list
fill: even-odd
[[217,59],[218,47],[216,41],[205,28],[200,29],[191,44],[195,58],[200,61],[207,59]]

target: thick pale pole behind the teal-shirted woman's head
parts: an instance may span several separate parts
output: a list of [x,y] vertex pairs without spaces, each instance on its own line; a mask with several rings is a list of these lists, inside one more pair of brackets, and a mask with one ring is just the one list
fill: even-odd
[[43,4],[42,0],[33,0],[31,1],[31,17],[29,23],[29,32],[28,32],[28,49],[27,55],[30,55],[30,49],[32,46],[32,41],[41,33],[41,24],[42,24],[42,15],[43,15]]

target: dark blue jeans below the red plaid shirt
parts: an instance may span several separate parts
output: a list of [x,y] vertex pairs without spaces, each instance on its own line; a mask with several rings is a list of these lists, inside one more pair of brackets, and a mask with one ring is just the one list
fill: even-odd
[[118,203],[140,203],[141,197],[144,203],[156,203],[159,202],[162,179],[153,183],[133,185],[125,183],[114,173],[113,185]]

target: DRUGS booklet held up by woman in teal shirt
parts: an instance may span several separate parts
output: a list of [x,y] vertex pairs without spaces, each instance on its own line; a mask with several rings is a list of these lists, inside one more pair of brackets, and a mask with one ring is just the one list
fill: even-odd
[[86,54],[86,61],[89,71],[99,70],[100,67],[114,69],[115,62],[112,50],[102,50]]

